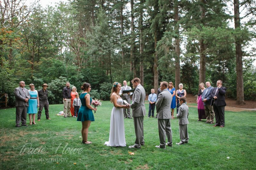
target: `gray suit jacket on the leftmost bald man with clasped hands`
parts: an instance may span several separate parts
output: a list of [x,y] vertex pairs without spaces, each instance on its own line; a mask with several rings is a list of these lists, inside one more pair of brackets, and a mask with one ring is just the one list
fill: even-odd
[[26,98],[30,99],[30,94],[28,92],[28,89],[24,88],[24,90],[25,90],[25,93],[21,87],[17,87],[14,90],[15,98],[16,98],[15,106],[28,106],[28,102],[25,102],[24,100]]

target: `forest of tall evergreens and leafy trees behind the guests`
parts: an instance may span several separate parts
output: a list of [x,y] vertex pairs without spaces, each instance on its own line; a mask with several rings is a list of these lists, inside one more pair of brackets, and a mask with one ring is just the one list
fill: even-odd
[[89,82],[93,98],[109,100],[114,81],[134,77],[148,94],[172,81],[196,95],[200,82],[220,79],[237,104],[256,100],[255,0],[32,2],[0,1],[0,93],[9,106],[21,80],[37,90],[47,83],[56,104],[66,81],[78,92]]

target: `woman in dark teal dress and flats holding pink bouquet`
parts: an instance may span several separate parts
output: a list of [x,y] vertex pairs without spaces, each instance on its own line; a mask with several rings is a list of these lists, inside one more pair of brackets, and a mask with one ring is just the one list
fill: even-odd
[[91,91],[91,85],[89,83],[84,83],[83,86],[81,86],[81,89],[84,90],[84,92],[80,95],[82,106],[79,109],[77,121],[82,122],[82,142],[84,144],[91,144],[91,141],[87,141],[88,129],[91,125],[91,122],[94,121],[92,110],[96,111],[97,108],[93,108],[91,106],[92,98],[88,94]]

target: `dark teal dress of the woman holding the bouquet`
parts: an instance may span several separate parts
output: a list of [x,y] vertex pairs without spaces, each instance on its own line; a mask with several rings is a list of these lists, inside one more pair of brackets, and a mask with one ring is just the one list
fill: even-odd
[[[81,100],[82,106],[79,109],[76,121],[84,122],[84,121],[90,120],[93,122],[94,116],[93,116],[92,110],[86,106],[86,102],[85,102],[85,98],[84,98],[86,94],[87,93],[82,93],[80,95],[80,100]],[[90,97],[90,105],[91,105],[91,103],[92,103],[92,98]]]

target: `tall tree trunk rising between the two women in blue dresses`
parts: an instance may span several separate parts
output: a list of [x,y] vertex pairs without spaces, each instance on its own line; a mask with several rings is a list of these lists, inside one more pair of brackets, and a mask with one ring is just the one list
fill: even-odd
[[179,89],[180,84],[180,32],[179,32],[179,7],[178,0],[174,1],[174,21],[175,21],[175,33],[177,37],[175,38],[175,89]]

